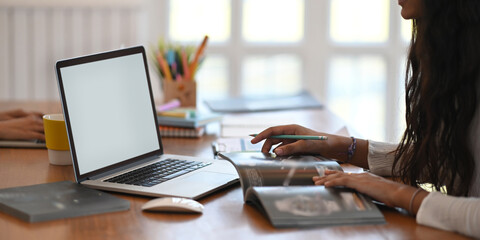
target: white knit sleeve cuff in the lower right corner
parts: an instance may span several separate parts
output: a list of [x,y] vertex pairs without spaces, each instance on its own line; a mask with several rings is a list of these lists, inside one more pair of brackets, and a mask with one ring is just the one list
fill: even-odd
[[420,205],[417,223],[480,238],[480,198],[430,193]]

